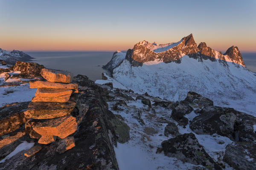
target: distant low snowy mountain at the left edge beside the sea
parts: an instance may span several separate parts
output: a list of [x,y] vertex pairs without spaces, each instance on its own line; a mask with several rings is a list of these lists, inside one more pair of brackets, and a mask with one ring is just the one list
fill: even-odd
[[27,62],[31,61],[31,59],[33,58],[23,51],[13,50],[9,52],[0,48],[0,60],[3,60],[8,64],[15,64],[16,61]]

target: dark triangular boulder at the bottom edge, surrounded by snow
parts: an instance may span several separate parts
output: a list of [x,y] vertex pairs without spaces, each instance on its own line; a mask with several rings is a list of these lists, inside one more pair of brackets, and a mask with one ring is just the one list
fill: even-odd
[[193,133],[178,135],[175,138],[163,141],[161,145],[166,156],[176,157],[191,164],[201,164],[210,170],[221,170],[221,167],[213,161],[204,147],[199,144]]

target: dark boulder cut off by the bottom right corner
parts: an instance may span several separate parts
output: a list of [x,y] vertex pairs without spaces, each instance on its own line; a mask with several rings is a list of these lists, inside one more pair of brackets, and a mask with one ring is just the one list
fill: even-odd
[[223,161],[236,170],[256,170],[256,143],[238,142],[228,144]]

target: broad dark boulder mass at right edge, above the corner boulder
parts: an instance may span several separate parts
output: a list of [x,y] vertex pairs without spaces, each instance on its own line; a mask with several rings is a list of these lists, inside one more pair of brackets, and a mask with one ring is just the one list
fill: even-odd
[[256,118],[233,108],[208,106],[200,111],[189,127],[197,134],[227,136],[233,141],[254,141],[256,134],[253,126]]

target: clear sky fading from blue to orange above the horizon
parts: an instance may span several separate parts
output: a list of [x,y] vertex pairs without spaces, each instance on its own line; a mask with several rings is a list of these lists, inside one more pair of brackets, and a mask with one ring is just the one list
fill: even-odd
[[193,34],[218,51],[256,51],[256,0],[0,0],[0,48],[116,51]]

